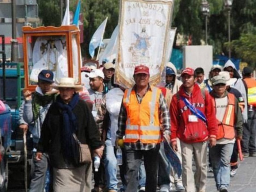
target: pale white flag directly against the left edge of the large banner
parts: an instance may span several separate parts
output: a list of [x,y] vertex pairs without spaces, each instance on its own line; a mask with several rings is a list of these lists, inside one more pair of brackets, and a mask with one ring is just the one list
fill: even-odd
[[108,42],[108,45],[105,51],[103,52],[103,54],[99,59],[100,64],[102,63],[102,61],[112,62],[113,59],[116,59],[118,32],[119,32],[119,27],[117,25],[110,37],[110,41]]

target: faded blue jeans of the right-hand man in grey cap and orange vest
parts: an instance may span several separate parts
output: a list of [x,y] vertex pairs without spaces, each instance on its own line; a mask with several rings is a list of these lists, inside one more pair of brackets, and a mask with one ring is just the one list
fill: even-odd
[[230,183],[230,159],[233,152],[234,143],[225,145],[217,144],[210,148],[212,159],[212,169],[217,189],[228,188]]

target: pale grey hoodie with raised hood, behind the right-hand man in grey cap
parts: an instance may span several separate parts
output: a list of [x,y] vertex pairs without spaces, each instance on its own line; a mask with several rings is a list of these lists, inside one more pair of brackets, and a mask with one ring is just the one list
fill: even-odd
[[225,63],[223,69],[225,69],[227,67],[232,67],[234,69],[234,76],[233,76],[233,78],[236,78],[237,80],[236,80],[236,82],[233,85],[231,85],[231,87],[236,88],[242,94],[242,96],[243,96],[244,105],[245,106],[244,106],[244,111],[242,113],[242,116],[243,116],[243,121],[247,122],[247,119],[248,119],[248,117],[247,117],[247,108],[248,108],[248,106],[247,106],[247,96],[246,96],[246,90],[245,90],[245,87],[244,87],[244,82],[243,82],[240,74],[236,70],[236,67],[235,67],[234,63],[231,60],[228,60]]

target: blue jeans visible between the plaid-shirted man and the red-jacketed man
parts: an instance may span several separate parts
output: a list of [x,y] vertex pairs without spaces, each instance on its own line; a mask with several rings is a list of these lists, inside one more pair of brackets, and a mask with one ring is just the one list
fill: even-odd
[[159,150],[159,167],[158,167],[158,185],[160,187],[170,188],[171,164],[164,153],[164,143],[161,142]]

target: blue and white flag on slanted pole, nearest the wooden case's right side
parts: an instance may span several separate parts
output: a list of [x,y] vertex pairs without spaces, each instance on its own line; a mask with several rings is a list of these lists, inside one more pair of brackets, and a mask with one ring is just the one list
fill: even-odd
[[100,24],[95,33],[92,36],[92,39],[89,44],[89,53],[91,57],[94,56],[95,49],[102,44],[102,39],[104,35],[104,31],[106,28],[108,17]]

